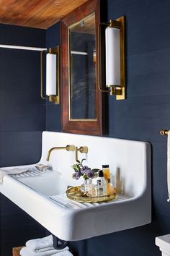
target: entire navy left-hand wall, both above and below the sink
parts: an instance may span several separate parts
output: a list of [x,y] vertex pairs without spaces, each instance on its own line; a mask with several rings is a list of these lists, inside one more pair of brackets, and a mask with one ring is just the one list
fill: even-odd
[[[45,30],[0,25],[0,43],[45,46]],[[40,53],[0,48],[0,166],[39,161],[45,130],[45,102],[40,99]],[[0,195],[0,255],[43,236],[45,229]]]

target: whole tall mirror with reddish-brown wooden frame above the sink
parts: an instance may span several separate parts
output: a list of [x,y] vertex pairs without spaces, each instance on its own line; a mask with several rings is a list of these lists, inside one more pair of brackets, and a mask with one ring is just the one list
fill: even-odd
[[63,132],[102,135],[97,65],[99,22],[99,0],[87,1],[61,20]]

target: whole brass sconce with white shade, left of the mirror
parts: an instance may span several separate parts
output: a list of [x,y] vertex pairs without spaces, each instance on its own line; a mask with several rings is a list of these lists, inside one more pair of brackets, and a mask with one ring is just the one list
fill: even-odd
[[55,104],[60,103],[60,48],[49,48],[48,51],[41,51],[40,53],[40,81],[41,81],[41,98],[46,100],[43,96],[43,53],[46,52],[46,95],[50,102]]

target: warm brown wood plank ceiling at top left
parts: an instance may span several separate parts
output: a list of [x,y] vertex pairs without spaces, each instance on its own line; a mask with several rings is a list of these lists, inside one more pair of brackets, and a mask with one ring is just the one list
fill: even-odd
[[0,0],[0,23],[47,29],[87,0]]

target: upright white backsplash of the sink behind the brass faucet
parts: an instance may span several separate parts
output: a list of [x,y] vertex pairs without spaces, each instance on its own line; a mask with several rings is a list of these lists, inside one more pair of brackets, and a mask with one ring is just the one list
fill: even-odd
[[43,132],[40,162],[49,164],[53,170],[61,172],[64,183],[76,186],[81,185],[84,180],[72,178],[71,165],[76,163],[74,151],[55,150],[50,155],[50,161],[46,161],[50,148],[66,145],[75,145],[78,148],[87,146],[88,153],[78,153],[78,158],[79,160],[86,158],[84,163],[90,168],[102,168],[103,164],[109,164],[112,182],[120,194],[133,197],[141,192],[146,179],[143,171],[146,166],[143,166],[143,163],[150,164],[146,161],[146,150],[150,154],[148,143],[61,132]]

